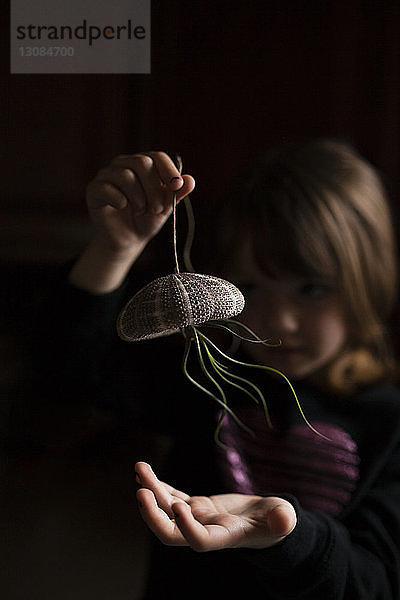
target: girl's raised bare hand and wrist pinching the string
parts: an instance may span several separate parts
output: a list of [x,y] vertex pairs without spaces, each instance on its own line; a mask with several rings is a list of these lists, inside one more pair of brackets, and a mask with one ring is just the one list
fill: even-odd
[[148,242],[160,231],[177,201],[194,188],[164,152],[118,156],[87,188],[95,235],[72,268],[69,281],[95,294],[122,283]]

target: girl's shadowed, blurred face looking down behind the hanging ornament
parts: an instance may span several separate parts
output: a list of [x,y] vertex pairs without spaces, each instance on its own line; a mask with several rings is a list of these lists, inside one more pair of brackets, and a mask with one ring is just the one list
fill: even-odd
[[240,320],[262,339],[282,342],[273,348],[245,342],[255,362],[299,379],[327,366],[343,348],[349,321],[335,283],[291,273],[272,279],[259,270],[250,252],[241,253],[229,278],[246,299]]

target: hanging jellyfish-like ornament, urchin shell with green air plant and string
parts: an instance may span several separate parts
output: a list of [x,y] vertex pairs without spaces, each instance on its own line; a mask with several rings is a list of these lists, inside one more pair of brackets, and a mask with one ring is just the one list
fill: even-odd
[[[181,167],[181,163],[180,163]],[[181,273],[176,249],[176,196],[173,199],[173,239],[175,273],[159,277],[139,290],[121,311],[117,330],[119,336],[129,342],[148,340],[181,332],[185,338],[182,368],[185,377],[202,392],[211,396],[221,407],[220,418],[215,430],[217,444],[219,431],[226,414],[229,414],[250,435],[252,430],[243,423],[229,406],[226,388],[238,390],[253,402],[262,406],[265,420],[272,427],[267,403],[261,389],[249,379],[234,372],[235,367],[261,369],[283,378],[288,384],[298,409],[307,425],[318,435],[306,419],[296,392],[289,379],[281,371],[266,365],[242,362],[223,352],[200,329],[216,328],[251,343],[271,346],[245,324],[232,319],[245,306],[241,291],[229,281],[194,273],[190,262],[190,246],[193,240],[194,219],[189,198],[185,198],[189,220],[189,233],[184,250],[186,268],[191,272]],[[241,333],[238,333],[241,331]],[[245,337],[246,336],[246,337]],[[188,370],[189,356],[194,348],[204,381],[196,379]]]

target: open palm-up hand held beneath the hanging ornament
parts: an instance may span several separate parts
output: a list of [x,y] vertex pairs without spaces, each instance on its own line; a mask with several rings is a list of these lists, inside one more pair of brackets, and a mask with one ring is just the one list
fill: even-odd
[[197,552],[223,548],[268,548],[296,525],[293,506],[283,498],[220,494],[189,496],[159,481],[150,465],[136,463],[140,513],[168,546]]

